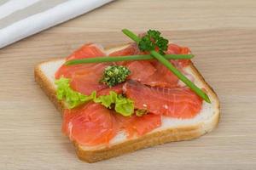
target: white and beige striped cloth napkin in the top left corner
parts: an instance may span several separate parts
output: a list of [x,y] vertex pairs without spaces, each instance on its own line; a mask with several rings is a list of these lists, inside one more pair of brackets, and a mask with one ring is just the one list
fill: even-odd
[[0,0],[0,48],[113,0]]

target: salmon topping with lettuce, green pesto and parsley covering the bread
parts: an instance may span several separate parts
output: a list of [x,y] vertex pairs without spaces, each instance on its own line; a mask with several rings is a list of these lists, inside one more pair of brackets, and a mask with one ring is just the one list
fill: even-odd
[[[76,64],[66,63],[55,72],[57,98],[68,106],[63,133],[79,144],[109,144],[119,131],[125,131],[128,139],[151,132],[160,127],[162,116],[195,117],[201,111],[204,93],[154,59],[151,52],[160,54],[178,74],[187,74],[184,68],[190,60],[177,58],[189,57],[189,48],[168,44],[159,31],[148,31],[140,43],[108,56],[93,43],[68,56],[67,62],[77,59]],[[174,59],[167,58],[171,56]],[[97,61],[104,58],[109,62]],[[124,60],[113,62],[115,58]],[[187,86],[181,86],[180,80]]]

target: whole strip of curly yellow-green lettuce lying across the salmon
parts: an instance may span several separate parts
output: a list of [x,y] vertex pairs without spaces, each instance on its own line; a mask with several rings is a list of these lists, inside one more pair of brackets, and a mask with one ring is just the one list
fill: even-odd
[[74,91],[70,87],[69,82],[70,80],[64,77],[55,80],[57,99],[64,99],[69,109],[73,109],[89,101],[94,101],[95,103],[104,105],[108,109],[114,109],[123,116],[131,116],[134,113],[134,102],[131,99],[125,98],[122,94],[116,94],[110,91],[108,95],[96,97],[96,91],[93,91],[90,95],[84,95]]

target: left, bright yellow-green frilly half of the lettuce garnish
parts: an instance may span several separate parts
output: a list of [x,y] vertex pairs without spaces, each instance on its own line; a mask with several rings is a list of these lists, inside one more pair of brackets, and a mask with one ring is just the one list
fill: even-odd
[[74,91],[70,88],[69,79],[67,78],[61,77],[60,79],[55,80],[55,84],[57,85],[57,99],[65,99],[69,109],[96,98],[96,91],[92,92],[90,95],[84,95]]

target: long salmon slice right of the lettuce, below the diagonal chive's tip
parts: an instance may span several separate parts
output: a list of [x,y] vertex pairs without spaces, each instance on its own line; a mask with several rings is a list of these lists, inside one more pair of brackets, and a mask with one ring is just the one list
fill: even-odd
[[156,115],[186,119],[201,111],[202,99],[189,88],[154,88],[129,80],[124,92],[135,102],[135,108]]

